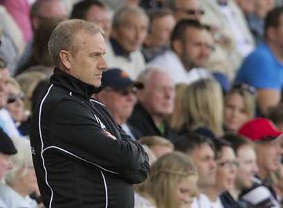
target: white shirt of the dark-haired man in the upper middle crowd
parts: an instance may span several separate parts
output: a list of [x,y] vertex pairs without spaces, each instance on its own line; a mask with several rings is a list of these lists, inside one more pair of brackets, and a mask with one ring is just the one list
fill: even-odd
[[212,78],[212,74],[207,69],[186,70],[179,57],[171,50],[166,51],[163,55],[158,55],[147,64],[147,67],[161,67],[170,74],[175,84],[190,84],[201,78]]

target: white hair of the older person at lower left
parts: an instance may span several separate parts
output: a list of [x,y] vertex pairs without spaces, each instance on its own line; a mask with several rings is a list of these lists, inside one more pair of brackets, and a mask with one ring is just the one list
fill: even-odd
[[[33,164],[28,137],[15,137],[12,138],[12,141],[17,148],[17,154],[11,156],[13,168],[11,171],[8,171],[5,177],[8,185],[12,185],[18,178],[24,177],[28,171],[28,164]],[[21,169],[22,171],[19,173]]]

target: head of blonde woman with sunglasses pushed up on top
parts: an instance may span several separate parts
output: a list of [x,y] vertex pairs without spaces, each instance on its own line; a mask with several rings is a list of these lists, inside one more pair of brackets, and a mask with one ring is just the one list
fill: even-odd
[[255,116],[255,88],[239,84],[234,85],[225,97],[224,130],[235,133],[247,121]]

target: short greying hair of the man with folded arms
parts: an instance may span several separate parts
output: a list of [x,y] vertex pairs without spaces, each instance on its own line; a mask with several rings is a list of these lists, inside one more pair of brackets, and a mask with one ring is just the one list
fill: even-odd
[[60,51],[71,51],[77,53],[77,46],[74,44],[77,33],[86,32],[89,34],[101,33],[100,26],[82,19],[71,19],[62,21],[52,32],[48,41],[48,51],[57,67],[61,67]]

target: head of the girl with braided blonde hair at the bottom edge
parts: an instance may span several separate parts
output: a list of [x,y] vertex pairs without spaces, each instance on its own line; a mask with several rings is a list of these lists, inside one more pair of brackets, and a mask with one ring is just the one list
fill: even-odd
[[190,208],[197,194],[197,171],[183,153],[169,153],[151,166],[149,177],[137,190],[156,207]]

